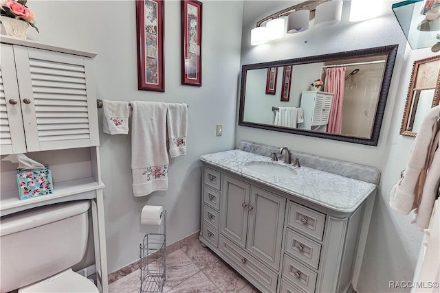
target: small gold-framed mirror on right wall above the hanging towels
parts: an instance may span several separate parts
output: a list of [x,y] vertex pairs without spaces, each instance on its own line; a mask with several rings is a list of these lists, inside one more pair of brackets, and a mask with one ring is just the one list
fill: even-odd
[[439,91],[440,55],[416,60],[412,65],[404,117],[400,126],[401,135],[417,135],[430,108],[439,104]]

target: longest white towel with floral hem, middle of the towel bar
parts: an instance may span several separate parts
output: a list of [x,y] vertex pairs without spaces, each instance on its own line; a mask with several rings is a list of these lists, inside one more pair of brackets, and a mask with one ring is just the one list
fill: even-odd
[[133,196],[168,189],[166,112],[162,102],[133,101],[131,121],[131,172]]

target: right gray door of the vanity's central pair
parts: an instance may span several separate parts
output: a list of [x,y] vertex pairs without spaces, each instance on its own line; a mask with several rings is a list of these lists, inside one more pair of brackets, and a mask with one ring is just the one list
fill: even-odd
[[246,248],[278,270],[286,200],[257,187],[251,187]]

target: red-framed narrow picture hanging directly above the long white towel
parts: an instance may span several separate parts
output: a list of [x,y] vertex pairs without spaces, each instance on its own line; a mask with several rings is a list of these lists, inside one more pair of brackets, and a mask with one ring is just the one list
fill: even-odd
[[144,91],[165,91],[164,3],[136,0],[137,82]]

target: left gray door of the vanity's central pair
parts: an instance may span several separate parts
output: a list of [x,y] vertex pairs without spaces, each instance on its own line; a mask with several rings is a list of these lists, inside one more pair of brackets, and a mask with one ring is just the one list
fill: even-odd
[[245,248],[248,226],[250,185],[229,176],[223,176],[221,187],[221,232]]

